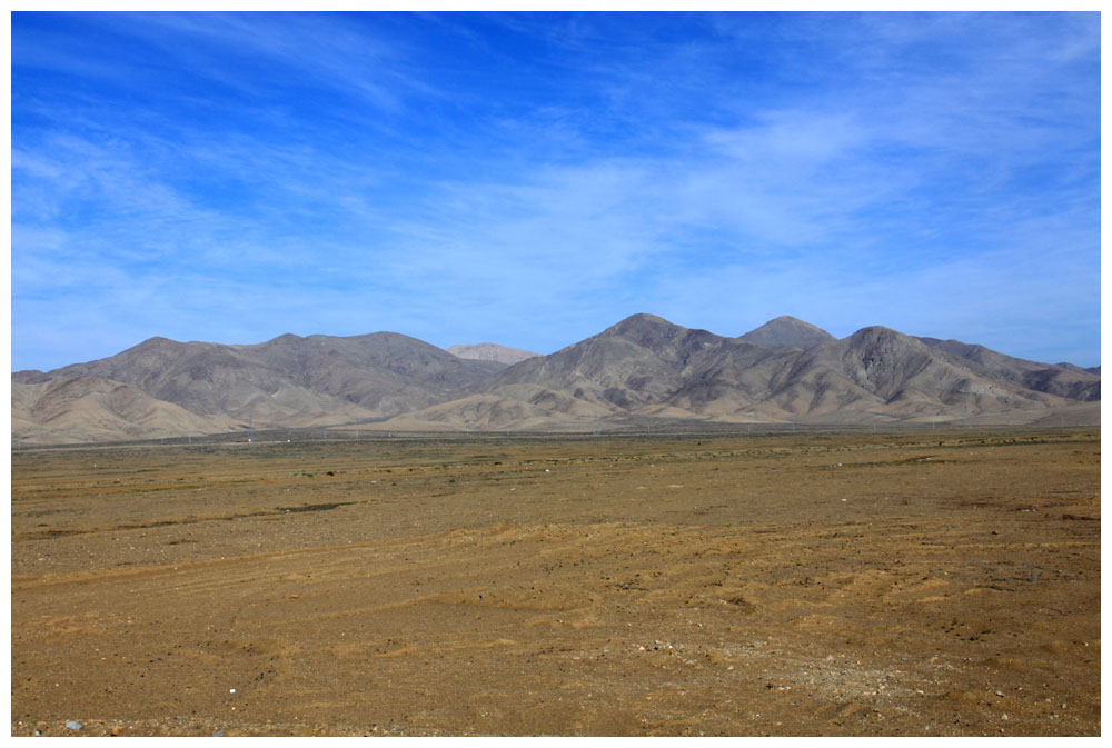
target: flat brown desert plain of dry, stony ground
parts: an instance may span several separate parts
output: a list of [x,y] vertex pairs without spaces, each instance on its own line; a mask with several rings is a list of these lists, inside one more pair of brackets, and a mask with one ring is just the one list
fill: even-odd
[[1099,735],[1099,482],[1095,428],[13,452],[11,730]]

